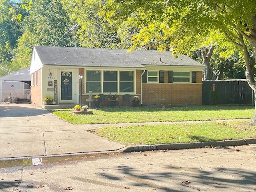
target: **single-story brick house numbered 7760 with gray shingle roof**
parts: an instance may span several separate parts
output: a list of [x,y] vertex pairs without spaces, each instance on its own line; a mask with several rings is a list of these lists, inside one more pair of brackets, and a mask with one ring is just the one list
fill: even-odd
[[52,96],[56,104],[78,104],[83,76],[83,104],[92,91],[120,100],[130,94],[131,103],[138,95],[144,105],[200,105],[203,68],[187,56],[175,59],[170,51],[35,46],[31,102],[42,106],[44,97]]

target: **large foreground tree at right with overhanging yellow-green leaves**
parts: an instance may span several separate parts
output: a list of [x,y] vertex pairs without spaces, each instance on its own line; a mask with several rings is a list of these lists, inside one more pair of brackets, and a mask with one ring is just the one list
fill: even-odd
[[[108,0],[102,12],[105,19],[117,28],[122,22],[130,22],[133,18],[135,24],[140,26],[138,36],[157,39],[160,48],[176,46],[177,41],[183,40],[179,39],[180,36],[196,44],[211,32],[224,35],[226,42],[230,41],[242,50],[246,79],[256,94],[253,73],[256,64],[255,7],[254,0]],[[154,29],[149,32],[150,28]],[[155,38],[156,34],[161,35]],[[140,38],[135,40],[140,42]],[[191,48],[190,44],[178,45],[181,50]],[[251,123],[256,124],[256,105]]]

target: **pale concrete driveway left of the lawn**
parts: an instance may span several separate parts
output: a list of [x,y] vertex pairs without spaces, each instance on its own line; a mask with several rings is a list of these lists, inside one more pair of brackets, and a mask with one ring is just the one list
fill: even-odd
[[113,151],[125,147],[33,104],[0,103],[0,159]]

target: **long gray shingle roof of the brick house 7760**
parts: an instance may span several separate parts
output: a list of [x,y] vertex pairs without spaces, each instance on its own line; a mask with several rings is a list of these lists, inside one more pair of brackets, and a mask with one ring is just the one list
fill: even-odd
[[[43,65],[60,66],[102,66],[144,68],[144,65],[201,66],[187,56],[178,59],[170,51],[75,48],[75,47],[34,47]],[[162,62],[160,62],[160,58]]]

